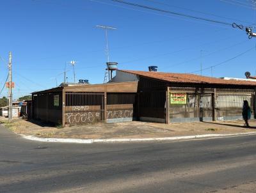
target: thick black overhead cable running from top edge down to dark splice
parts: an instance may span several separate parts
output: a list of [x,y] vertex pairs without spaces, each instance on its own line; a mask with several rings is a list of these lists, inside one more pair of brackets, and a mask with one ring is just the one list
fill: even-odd
[[143,8],[143,9],[146,9],[146,10],[153,10],[153,11],[156,11],[156,12],[163,12],[163,13],[168,13],[168,14],[171,14],[171,15],[182,16],[182,17],[186,17],[186,18],[189,18],[189,19],[204,20],[204,21],[207,21],[207,22],[213,22],[215,24],[223,24],[223,25],[226,25],[226,26],[231,26],[232,25],[230,23],[222,22],[222,21],[219,21],[219,20],[212,20],[212,19],[207,19],[207,18],[204,18],[204,17],[196,17],[196,16],[193,16],[193,15],[188,15],[188,14],[179,13],[179,12],[171,12],[171,11],[168,11],[168,10],[162,10],[162,9],[159,9],[159,8],[154,8],[152,6],[145,6],[143,4],[129,3],[127,1],[121,1],[121,0],[110,0],[110,1],[113,1],[113,2],[116,2],[116,3],[127,4],[127,5],[130,5],[130,6],[135,6],[135,7],[139,7],[139,8]]

